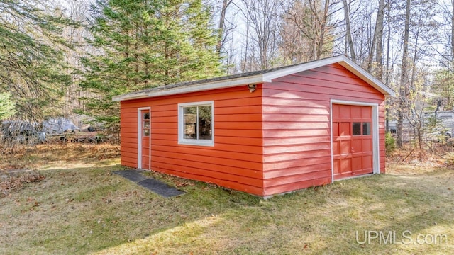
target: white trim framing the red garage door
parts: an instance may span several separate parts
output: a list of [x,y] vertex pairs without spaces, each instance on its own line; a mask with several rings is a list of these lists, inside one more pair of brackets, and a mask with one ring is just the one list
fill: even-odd
[[378,118],[378,103],[366,103],[358,101],[344,101],[331,99],[330,101],[330,143],[331,143],[331,182],[334,182],[334,155],[333,155],[333,104],[348,106],[371,106],[372,107],[372,174],[380,174],[380,133]]

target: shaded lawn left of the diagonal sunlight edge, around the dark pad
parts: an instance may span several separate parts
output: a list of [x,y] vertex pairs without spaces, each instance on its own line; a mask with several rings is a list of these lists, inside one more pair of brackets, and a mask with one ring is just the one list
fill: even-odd
[[44,181],[1,198],[0,227],[9,234],[0,237],[6,244],[0,253],[86,254],[203,222],[226,208],[260,200],[182,179],[179,183],[186,186],[180,188],[189,194],[162,198],[111,174],[120,169],[123,166],[45,170]]

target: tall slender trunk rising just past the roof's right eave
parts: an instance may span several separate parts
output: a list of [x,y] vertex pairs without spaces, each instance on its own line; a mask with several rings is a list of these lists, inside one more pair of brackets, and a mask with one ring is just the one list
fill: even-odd
[[409,23],[410,23],[410,7],[411,0],[406,0],[405,11],[405,31],[404,31],[404,50],[402,53],[402,67],[400,76],[399,87],[399,105],[397,106],[397,130],[396,130],[396,143],[400,148],[402,147],[402,124],[404,121],[404,107],[406,103],[406,82],[408,80],[406,74],[406,64],[408,62],[409,52]]

